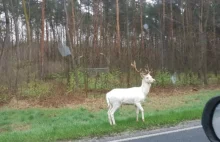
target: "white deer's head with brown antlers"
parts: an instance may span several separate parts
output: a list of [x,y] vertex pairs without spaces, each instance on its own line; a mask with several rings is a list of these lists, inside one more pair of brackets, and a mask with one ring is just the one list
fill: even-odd
[[142,69],[137,69],[135,61],[131,63],[131,66],[135,69],[136,72],[140,73],[140,76],[145,83],[151,84],[155,81],[155,79],[150,75],[151,71],[149,70],[148,66],[147,69],[144,69],[144,71]]

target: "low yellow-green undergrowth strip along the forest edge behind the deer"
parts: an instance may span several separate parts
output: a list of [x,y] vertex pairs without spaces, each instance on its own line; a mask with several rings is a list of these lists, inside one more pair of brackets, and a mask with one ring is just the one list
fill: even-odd
[[[97,76],[89,76],[86,73],[78,70],[78,88],[76,87],[75,76],[73,72],[69,73],[69,82],[67,82],[67,76],[64,73],[56,73],[51,74],[46,77],[45,80],[31,80],[29,83],[23,83],[18,86],[16,94],[22,97],[29,97],[29,98],[40,98],[48,95],[55,95],[57,85],[55,84],[62,84],[64,87],[64,92],[76,92],[76,88],[79,91],[87,90],[111,90],[113,88],[127,88],[133,86],[140,86],[141,85],[141,77],[138,73],[131,71],[130,75],[128,76],[127,73],[123,73],[119,70],[113,70],[108,73],[100,73]],[[175,82],[172,82],[172,76],[175,78]],[[153,77],[156,79],[156,82],[153,86],[196,86],[196,85],[203,85],[202,78],[199,78],[196,73],[187,72],[187,73],[178,73],[178,74],[171,74],[170,72],[158,71],[153,74]],[[128,82],[129,78],[129,82]],[[220,75],[216,76],[214,74],[208,74],[208,82],[209,84],[217,84],[220,83]],[[88,84],[86,86],[85,84]],[[10,98],[10,93],[8,90],[11,88],[0,86],[0,103],[7,102]],[[66,91],[66,92],[65,92]]]

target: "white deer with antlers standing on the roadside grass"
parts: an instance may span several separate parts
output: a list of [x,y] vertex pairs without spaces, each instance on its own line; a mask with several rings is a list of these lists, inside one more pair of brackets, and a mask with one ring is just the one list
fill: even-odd
[[114,113],[122,104],[129,104],[136,106],[136,121],[138,121],[139,111],[142,113],[142,121],[144,122],[144,109],[141,103],[147,97],[150,91],[151,84],[155,81],[150,75],[149,69],[143,72],[142,69],[136,68],[136,63],[131,63],[131,66],[141,75],[142,84],[140,87],[132,88],[118,88],[113,89],[106,94],[106,101],[108,104],[108,119],[110,125],[115,125]]

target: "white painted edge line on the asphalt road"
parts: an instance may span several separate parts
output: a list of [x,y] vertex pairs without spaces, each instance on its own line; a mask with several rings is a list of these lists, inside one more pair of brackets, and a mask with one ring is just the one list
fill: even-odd
[[188,131],[188,130],[193,130],[193,129],[198,129],[198,128],[202,128],[202,126],[199,125],[199,126],[188,127],[188,128],[183,128],[183,129],[177,129],[177,130],[172,130],[172,131],[166,131],[166,132],[161,132],[161,133],[155,133],[155,134],[149,134],[149,135],[119,139],[119,140],[114,140],[114,141],[111,141],[111,142],[123,142],[123,141],[130,141],[130,140],[136,140],[136,139],[142,139],[142,138],[149,138],[149,137],[155,137],[155,136],[166,135],[166,134],[170,134],[170,133]]

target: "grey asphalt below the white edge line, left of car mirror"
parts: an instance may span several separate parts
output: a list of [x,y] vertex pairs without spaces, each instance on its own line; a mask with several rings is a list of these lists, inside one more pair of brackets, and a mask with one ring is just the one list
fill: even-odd
[[159,134],[148,136],[146,138],[135,139],[130,138],[124,140],[115,141],[130,141],[130,142],[209,142],[202,128],[196,128],[191,130],[184,130],[179,132],[172,132],[168,134]]

